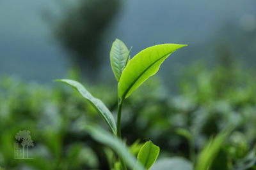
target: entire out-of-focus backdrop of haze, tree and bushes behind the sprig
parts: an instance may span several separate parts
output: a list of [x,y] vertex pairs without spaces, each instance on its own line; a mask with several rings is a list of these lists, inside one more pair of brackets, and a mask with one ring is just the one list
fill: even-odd
[[[116,154],[79,129],[94,122],[108,131],[104,120],[76,90],[52,83],[83,83],[116,120],[109,62],[116,38],[133,46],[132,57],[161,43],[188,45],[125,99],[122,137],[138,144],[134,157],[152,140],[161,148],[157,161],[179,157],[177,167],[187,169],[194,152],[198,157],[209,139],[236,124],[212,169],[256,169],[255,0],[0,1],[0,169],[116,167]],[[22,130],[34,146],[15,141]],[[13,142],[20,150],[26,144],[34,159],[13,159]]]

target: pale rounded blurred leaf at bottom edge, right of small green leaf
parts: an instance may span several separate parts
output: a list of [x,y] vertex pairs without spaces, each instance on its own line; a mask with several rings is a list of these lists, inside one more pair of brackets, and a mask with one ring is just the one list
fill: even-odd
[[159,159],[150,170],[193,170],[192,163],[182,157]]

